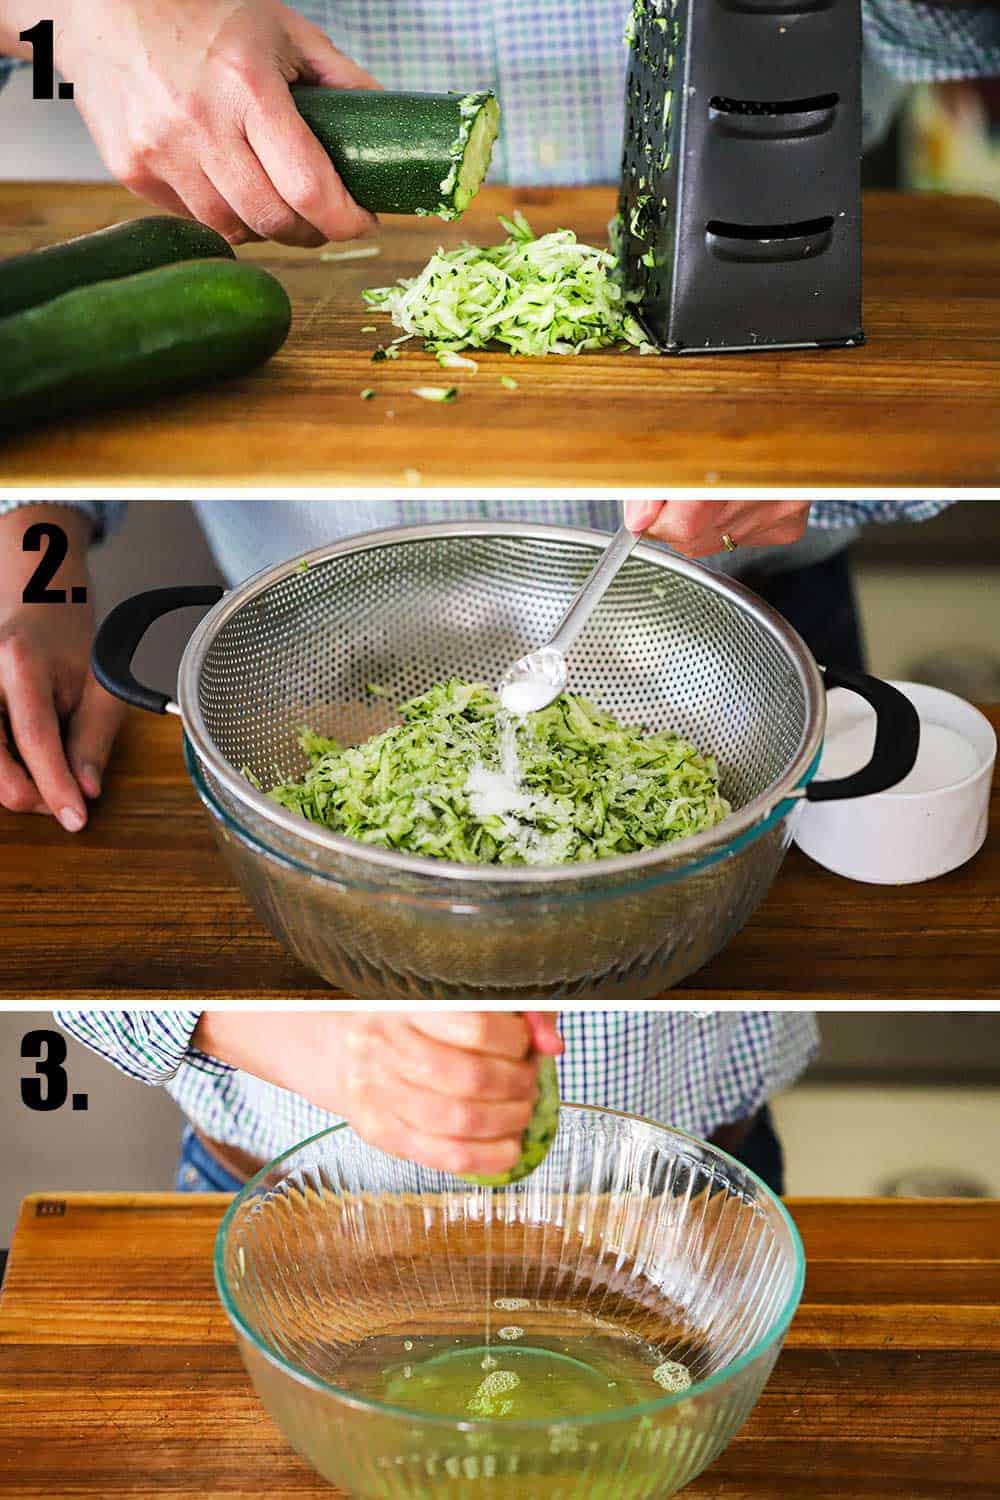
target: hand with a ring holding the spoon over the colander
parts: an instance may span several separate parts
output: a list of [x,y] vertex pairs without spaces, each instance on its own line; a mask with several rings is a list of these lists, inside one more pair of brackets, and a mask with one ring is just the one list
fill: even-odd
[[777,548],[798,542],[810,519],[801,500],[627,500],[625,525],[666,542],[690,558],[724,550],[729,536],[739,548]]

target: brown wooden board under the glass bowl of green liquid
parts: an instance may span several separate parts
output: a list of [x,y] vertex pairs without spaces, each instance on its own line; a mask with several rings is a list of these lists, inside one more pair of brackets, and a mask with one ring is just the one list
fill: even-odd
[[[0,1296],[10,1500],[336,1500],[243,1372],[225,1197],[27,1198]],[[805,1298],[690,1500],[996,1500],[1000,1203],[799,1198]],[[342,1497],[343,1500],[343,1497]]]

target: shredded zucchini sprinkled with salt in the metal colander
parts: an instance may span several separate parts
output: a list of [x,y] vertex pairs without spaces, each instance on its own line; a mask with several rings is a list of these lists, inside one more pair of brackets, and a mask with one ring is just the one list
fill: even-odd
[[[513,722],[492,688],[453,678],[406,704],[402,718],[352,748],[303,730],[306,776],[268,795],[361,843],[465,864],[634,854],[714,828],[730,812],[711,756],[667,730],[619,724],[570,693]],[[480,816],[475,776],[501,766],[511,735],[516,806]]]

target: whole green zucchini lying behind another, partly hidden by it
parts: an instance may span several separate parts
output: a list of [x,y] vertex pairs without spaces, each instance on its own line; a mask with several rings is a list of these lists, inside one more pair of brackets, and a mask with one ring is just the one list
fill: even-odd
[[0,261],[0,318],[36,308],[91,282],[117,280],[174,261],[234,260],[220,234],[190,219],[153,218],[114,224],[64,244]]

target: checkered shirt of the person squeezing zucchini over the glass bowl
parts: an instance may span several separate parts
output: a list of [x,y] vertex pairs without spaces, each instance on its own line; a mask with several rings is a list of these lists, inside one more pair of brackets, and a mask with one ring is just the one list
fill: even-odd
[[[199,1012],[57,1011],[60,1026],[123,1072],[162,1084],[216,1142],[270,1160],[339,1124],[286,1089],[190,1046]],[[246,1017],[252,1024],[253,1017]],[[562,1098],[643,1114],[694,1136],[754,1114],[817,1048],[808,1011],[564,1011]]]

